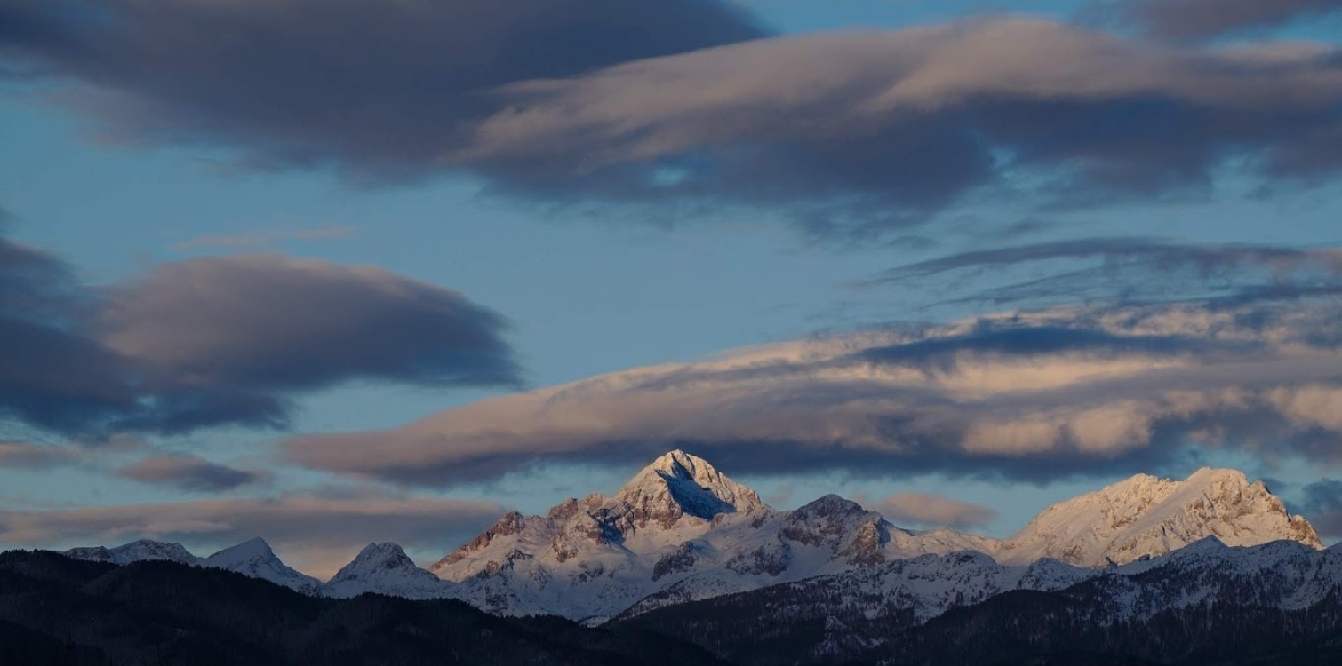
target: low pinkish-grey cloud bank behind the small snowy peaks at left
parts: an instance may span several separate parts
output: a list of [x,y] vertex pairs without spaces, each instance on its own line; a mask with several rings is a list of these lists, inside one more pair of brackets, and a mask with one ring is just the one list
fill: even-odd
[[181,541],[208,555],[256,536],[307,574],[329,576],[364,545],[392,540],[447,552],[488,527],[494,503],[391,496],[205,500],[75,509],[0,509],[0,544],[67,548],[136,539]]

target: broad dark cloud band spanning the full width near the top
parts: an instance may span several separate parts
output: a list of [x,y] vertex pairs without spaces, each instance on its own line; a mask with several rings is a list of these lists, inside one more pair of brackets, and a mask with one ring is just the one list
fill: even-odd
[[471,174],[640,218],[741,209],[871,235],[984,196],[1071,208],[1208,196],[1227,163],[1264,185],[1342,168],[1326,46],[1009,17],[766,38],[707,0],[119,0],[97,16],[0,0],[0,23],[11,68],[70,82],[58,96],[123,141],[358,181]]

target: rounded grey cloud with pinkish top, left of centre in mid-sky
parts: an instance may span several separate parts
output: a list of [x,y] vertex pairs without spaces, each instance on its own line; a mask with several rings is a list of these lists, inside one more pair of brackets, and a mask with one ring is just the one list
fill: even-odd
[[458,292],[374,267],[278,255],[161,264],[111,289],[107,347],[170,387],[293,390],[348,379],[518,382],[505,320]]

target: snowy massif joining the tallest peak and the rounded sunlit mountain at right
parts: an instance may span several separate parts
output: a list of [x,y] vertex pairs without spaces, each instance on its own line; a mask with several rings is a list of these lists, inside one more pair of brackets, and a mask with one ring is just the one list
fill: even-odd
[[676,450],[612,496],[568,500],[544,517],[509,513],[431,571],[456,583],[450,594],[491,612],[600,620],[636,603],[683,603],[926,555],[976,551],[1017,568],[1044,557],[1096,568],[1208,536],[1321,548],[1304,519],[1233,470],[1202,469],[1185,481],[1138,474],[1060,503],[998,540],[902,529],[835,494],[774,511]]

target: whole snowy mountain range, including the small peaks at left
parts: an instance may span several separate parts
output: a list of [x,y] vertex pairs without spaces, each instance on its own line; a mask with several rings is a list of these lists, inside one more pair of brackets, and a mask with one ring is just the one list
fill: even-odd
[[[815,584],[807,582],[817,576],[855,599],[898,599],[900,612],[911,608],[927,619],[1012,590],[1063,590],[1108,571],[1137,571],[1208,537],[1220,547],[1286,540],[1300,552],[1322,551],[1303,517],[1291,516],[1261,482],[1229,469],[1201,469],[1182,481],[1138,474],[1049,507],[1019,533],[993,539],[905,529],[835,494],[777,511],[703,458],[675,450],[613,494],[570,498],[545,516],[507,513],[428,571],[392,543],[370,544],[325,584],[287,567],[260,539],[204,559],[157,541],[66,555],[114,564],[170,560],[310,595],[460,599],[493,614],[597,624]],[[933,591],[900,587],[909,572],[935,582]]]

